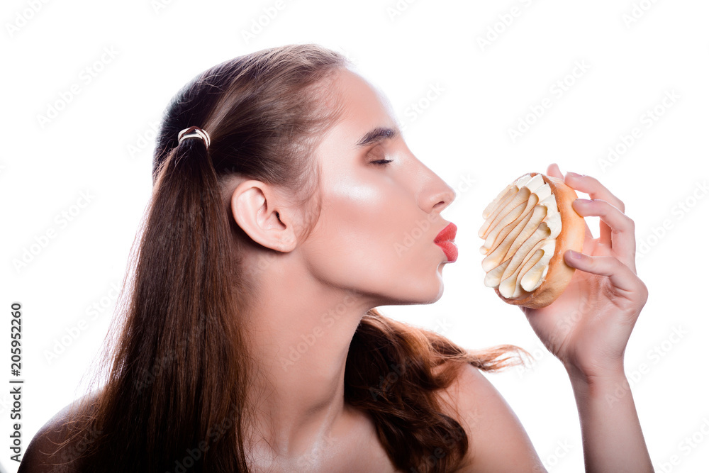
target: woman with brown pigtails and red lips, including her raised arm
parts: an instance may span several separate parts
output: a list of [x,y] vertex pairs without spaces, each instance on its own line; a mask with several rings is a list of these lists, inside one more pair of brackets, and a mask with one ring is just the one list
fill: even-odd
[[[153,179],[105,386],[21,472],[544,470],[480,372],[515,347],[463,350],[376,311],[440,299],[454,191],[344,57],[290,45],[200,74],[167,108]],[[632,221],[596,179],[564,179],[601,238],[586,228],[569,288],[526,315],[569,372],[587,469],[649,471],[632,396],[604,399],[647,299]]]

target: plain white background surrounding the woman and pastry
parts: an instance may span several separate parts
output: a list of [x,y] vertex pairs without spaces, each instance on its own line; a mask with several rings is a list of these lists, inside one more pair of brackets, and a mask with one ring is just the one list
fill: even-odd
[[[444,296],[431,306],[381,310],[465,347],[513,343],[532,352],[530,369],[489,379],[518,414],[549,471],[582,471],[569,381],[523,313],[483,285],[477,230],[484,206],[525,172],[545,172],[558,162],[562,172],[593,175],[625,202],[636,224],[637,269],[649,300],[625,364],[652,460],[658,472],[705,471],[709,318],[700,302],[709,229],[709,198],[701,187],[709,167],[709,4],[276,5],[3,2],[1,304],[4,334],[11,302],[23,304],[23,448],[79,394],[80,378],[101,347],[116,300],[112,288],[122,282],[150,196],[153,128],[169,99],[223,60],[314,42],[344,52],[389,96],[406,124],[411,150],[457,190],[457,200],[443,214],[459,229],[459,259],[444,269]],[[268,18],[264,9],[277,14]],[[264,26],[245,38],[259,20]],[[579,64],[583,72],[575,69]],[[564,80],[565,90],[555,85]],[[673,91],[674,101],[665,101],[671,106],[661,105]],[[545,98],[551,106],[543,115],[525,118]],[[40,123],[51,107],[61,110]],[[647,121],[647,111],[656,107],[661,116]],[[534,123],[510,138],[510,129],[525,119]],[[630,143],[627,135],[635,127],[640,138],[623,149],[623,136]],[[623,151],[613,162],[609,147]],[[91,199],[79,208],[82,192]],[[72,221],[62,223],[62,212],[74,212]],[[587,221],[598,235],[598,219]],[[55,238],[40,246],[48,230],[55,230]],[[17,267],[26,250],[35,254]],[[101,311],[89,316],[93,304]],[[86,325],[79,330],[82,319]],[[76,338],[68,335],[77,332]],[[9,379],[9,336],[2,338],[0,360]],[[48,360],[52,350],[61,352]],[[641,366],[647,369],[640,372]],[[9,387],[0,392],[0,462],[14,471]],[[693,435],[690,444],[686,438]]]

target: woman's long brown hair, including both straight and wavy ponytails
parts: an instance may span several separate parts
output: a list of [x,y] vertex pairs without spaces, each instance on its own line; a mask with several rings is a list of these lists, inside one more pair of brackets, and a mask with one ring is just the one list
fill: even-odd
[[[269,48],[199,74],[167,107],[105,386],[72,424],[72,441],[86,445],[72,458],[79,471],[248,471],[253,360],[240,311],[253,288],[223,186],[248,177],[307,199],[318,182],[311,152],[340,113],[318,97],[349,64],[318,45]],[[190,126],[211,135],[208,150],[178,144]],[[466,363],[510,364],[513,348],[464,350],[372,309],[352,338],[345,400],[371,416],[398,469],[445,472],[469,445],[435,391]]]

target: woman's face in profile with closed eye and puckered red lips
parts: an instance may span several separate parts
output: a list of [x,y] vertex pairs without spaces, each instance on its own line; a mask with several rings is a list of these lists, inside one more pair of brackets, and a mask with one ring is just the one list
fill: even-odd
[[448,259],[433,242],[455,193],[408,149],[384,96],[347,69],[334,87],[344,115],[316,148],[322,211],[301,247],[306,264],[378,306],[437,301]]

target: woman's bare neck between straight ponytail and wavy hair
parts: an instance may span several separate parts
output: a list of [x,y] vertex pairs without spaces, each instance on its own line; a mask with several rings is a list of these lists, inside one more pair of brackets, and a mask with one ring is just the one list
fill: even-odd
[[[285,259],[285,258],[283,258]],[[272,266],[278,265],[274,262]],[[259,278],[247,336],[257,363],[248,396],[257,442],[276,455],[298,455],[325,439],[345,413],[345,362],[364,313],[374,305],[325,288],[299,265]]]

